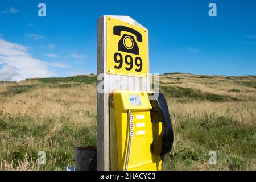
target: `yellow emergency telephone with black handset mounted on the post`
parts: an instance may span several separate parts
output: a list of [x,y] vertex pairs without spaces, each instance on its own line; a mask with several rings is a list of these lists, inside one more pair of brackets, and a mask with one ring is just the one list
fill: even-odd
[[110,169],[162,170],[174,140],[163,94],[115,90],[109,108]]

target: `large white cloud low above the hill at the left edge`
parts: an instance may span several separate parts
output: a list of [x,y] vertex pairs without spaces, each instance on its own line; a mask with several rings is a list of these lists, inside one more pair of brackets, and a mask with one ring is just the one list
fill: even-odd
[[28,47],[0,39],[0,80],[20,81],[33,77],[52,77],[48,63],[32,57]]

